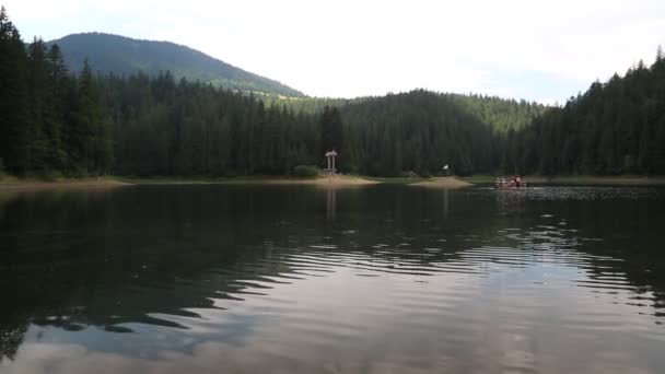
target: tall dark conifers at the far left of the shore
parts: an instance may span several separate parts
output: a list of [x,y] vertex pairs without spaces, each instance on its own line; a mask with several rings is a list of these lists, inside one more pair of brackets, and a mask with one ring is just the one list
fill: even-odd
[[42,176],[107,172],[112,138],[90,67],[75,79],[58,46],[35,39],[25,48],[4,9],[0,31],[0,159],[7,170]]

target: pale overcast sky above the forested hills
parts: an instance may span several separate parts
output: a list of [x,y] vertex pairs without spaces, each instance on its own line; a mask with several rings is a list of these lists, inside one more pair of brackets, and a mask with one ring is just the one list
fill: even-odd
[[25,40],[168,40],[313,96],[564,103],[665,45],[663,0],[0,0]]

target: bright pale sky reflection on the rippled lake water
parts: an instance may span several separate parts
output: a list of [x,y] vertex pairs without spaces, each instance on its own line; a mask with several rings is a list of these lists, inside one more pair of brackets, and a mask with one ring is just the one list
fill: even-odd
[[[375,271],[368,278],[358,276],[371,270],[340,266],[269,289],[249,287],[244,301],[214,300],[218,309],[190,311],[200,317],[159,316],[185,330],[124,324],[133,332],[96,327],[68,332],[32,326],[16,360],[0,367],[8,373],[219,367],[599,373],[644,365],[643,372],[654,372],[649,367],[660,354],[650,347],[663,344],[665,335],[654,330],[653,315],[631,305],[630,288],[580,287],[576,281],[593,283],[593,278],[576,266],[587,259],[574,252],[538,250],[523,258],[514,252],[525,250],[460,253],[457,261],[482,277],[440,272],[434,264],[422,274]],[[494,260],[480,260],[482,254]]]

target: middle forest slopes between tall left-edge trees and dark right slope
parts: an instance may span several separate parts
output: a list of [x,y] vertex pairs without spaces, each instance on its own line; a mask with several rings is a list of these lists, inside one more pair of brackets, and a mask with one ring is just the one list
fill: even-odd
[[470,174],[491,172],[499,152],[490,125],[425,91],[295,114],[167,73],[100,82],[121,175],[287,175],[324,165],[329,150],[345,173]]

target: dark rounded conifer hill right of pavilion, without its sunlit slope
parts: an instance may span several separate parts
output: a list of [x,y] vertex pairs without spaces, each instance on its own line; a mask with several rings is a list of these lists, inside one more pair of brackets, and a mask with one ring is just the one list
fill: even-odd
[[345,164],[385,176],[440,174],[445,164],[460,175],[491,172],[491,126],[453,97],[418,90],[342,107]]

